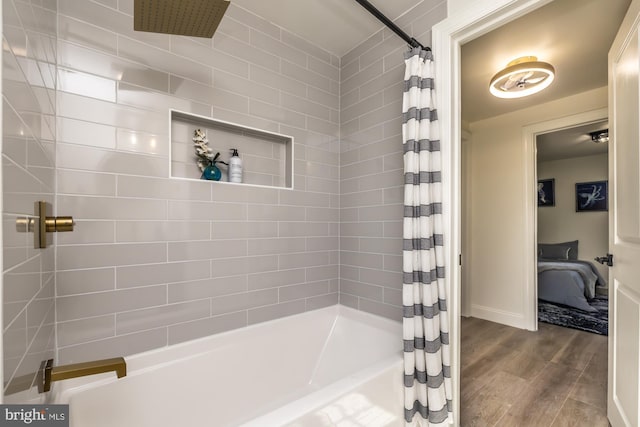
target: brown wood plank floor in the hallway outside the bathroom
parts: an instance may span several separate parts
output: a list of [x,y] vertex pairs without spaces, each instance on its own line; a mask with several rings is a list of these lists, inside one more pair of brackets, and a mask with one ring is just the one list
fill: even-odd
[[462,318],[461,426],[607,427],[607,337]]

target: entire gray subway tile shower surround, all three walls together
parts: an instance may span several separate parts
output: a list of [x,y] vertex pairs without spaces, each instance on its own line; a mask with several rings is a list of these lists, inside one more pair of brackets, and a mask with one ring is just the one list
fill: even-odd
[[[337,303],[400,317],[395,35],[338,58],[233,3],[213,39],[134,32],[133,0],[2,8],[5,394],[54,356],[133,354]],[[428,44],[445,16],[433,0],[401,21]],[[169,109],[293,136],[293,190],[170,178],[170,158],[197,171],[189,138],[172,149]],[[245,173],[281,167],[282,150],[237,143]],[[55,249],[16,232],[36,199],[76,219]]]

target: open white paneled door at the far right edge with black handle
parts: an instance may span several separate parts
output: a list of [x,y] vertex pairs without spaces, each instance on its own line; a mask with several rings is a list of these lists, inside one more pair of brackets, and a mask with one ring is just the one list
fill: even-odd
[[609,51],[609,390],[612,427],[640,414],[640,0]]

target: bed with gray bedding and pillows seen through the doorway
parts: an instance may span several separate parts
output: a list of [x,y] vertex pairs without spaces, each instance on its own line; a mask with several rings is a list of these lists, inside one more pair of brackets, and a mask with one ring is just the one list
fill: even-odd
[[587,312],[606,281],[590,261],[578,259],[578,241],[538,244],[538,298]]

